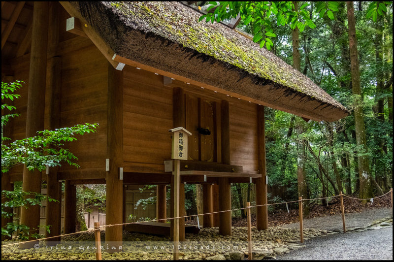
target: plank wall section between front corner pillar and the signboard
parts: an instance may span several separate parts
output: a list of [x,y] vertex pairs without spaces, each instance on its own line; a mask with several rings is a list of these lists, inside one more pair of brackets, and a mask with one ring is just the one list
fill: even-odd
[[123,160],[134,172],[164,172],[171,156],[172,88],[163,76],[125,66]]

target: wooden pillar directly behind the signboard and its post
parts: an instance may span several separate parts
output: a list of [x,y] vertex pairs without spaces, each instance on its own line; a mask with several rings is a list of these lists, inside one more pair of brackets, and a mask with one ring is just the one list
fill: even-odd
[[[177,127],[185,127],[186,126],[186,116],[185,116],[185,94],[183,92],[183,89],[180,87],[174,87],[173,89],[173,112],[172,112],[172,116],[173,116],[173,127],[177,128]],[[175,162],[174,162],[175,163]],[[174,166],[175,169],[175,166]],[[170,189],[170,198],[171,198],[171,206],[170,206],[170,216],[174,217],[174,210],[173,210],[173,206],[174,206],[174,177],[171,176],[171,189]],[[182,193],[183,192],[183,193]],[[184,205],[185,205],[185,185],[181,184],[179,187],[179,196],[180,196],[180,202],[179,204],[181,204],[181,202],[183,201],[183,205],[182,208],[180,208],[180,214],[184,214]],[[182,211],[183,210],[183,211]],[[171,240],[173,240],[173,228],[174,228],[174,220],[171,219],[170,220],[170,225],[171,225]],[[179,241],[183,241],[185,239],[184,235],[185,235],[185,219],[180,219],[179,220]],[[183,233],[181,233],[183,232]],[[182,235],[183,234],[183,235]],[[183,239],[182,239],[183,237]]]

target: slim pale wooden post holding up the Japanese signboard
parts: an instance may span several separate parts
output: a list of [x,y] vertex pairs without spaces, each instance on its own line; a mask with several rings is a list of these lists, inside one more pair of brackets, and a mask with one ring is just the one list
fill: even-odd
[[[173,184],[171,184],[171,190],[174,191],[173,193],[173,217],[179,217],[179,185],[180,185],[180,165],[179,160],[174,160],[174,175],[173,175]],[[179,259],[179,251],[178,251],[178,244],[179,244],[179,219],[172,219],[173,222],[173,239],[174,239],[174,253],[173,259]]]

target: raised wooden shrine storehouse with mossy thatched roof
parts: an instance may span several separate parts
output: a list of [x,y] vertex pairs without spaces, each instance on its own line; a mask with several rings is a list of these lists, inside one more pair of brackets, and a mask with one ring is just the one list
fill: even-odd
[[[97,133],[66,145],[79,169],[14,167],[2,174],[2,189],[23,181],[40,192],[46,180],[56,198],[65,180],[65,233],[75,230],[77,184],[106,183],[107,225],[125,221],[125,185],[158,185],[157,218],[165,218],[168,130],[183,127],[192,135],[180,163],[180,205],[184,183],[203,184],[204,212],[231,209],[230,183],[256,183],[257,204],[266,203],[264,106],[315,121],[349,112],[271,52],[200,16],[180,2],[1,2],[1,79],[26,82],[13,102],[21,116],[4,133],[15,140],[99,123]],[[59,204],[46,210],[47,235],[59,235]],[[231,234],[230,212],[203,221]],[[39,225],[39,207],[22,209],[21,223]],[[257,227],[268,227],[266,206]],[[105,238],[121,243],[122,226],[106,228]]]

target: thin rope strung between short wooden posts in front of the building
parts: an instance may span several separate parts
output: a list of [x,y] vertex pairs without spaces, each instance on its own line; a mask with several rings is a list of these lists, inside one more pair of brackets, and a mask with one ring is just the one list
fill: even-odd
[[[387,194],[391,193],[391,191],[387,192],[386,194],[379,196],[383,197],[386,196]],[[340,195],[336,196],[330,196],[330,197],[339,197]],[[343,195],[344,197],[349,197],[346,195]],[[306,200],[319,200],[319,199],[326,199],[330,197],[320,197],[320,198],[309,198],[309,199],[302,199],[302,201]],[[379,197],[372,197],[373,198],[379,198]],[[356,197],[349,197],[353,199],[358,199],[358,200],[370,200],[371,198],[356,198]],[[130,222],[130,223],[122,223],[122,224],[114,224],[114,225],[104,225],[100,226],[99,228],[107,228],[107,227],[116,227],[116,226],[124,226],[124,225],[130,225],[130,224],[139,224],[139,223],[146,223],[146,222],[156,222],[156,221],[162,221],[162,220],[171,220],[171,219],[179,219],[179,218],[188,218],[188,217],[195,217],[195,216],[204,216],[204,215],[210,215],[210,214],[216,214],[216,213],[223,213],[223,212],[230,212],[230,211],[235,211],[235,210],[242,210],[242,209],[249,209],[252,207],[260,207],[260,206],[269,206],[269,205],[280,205],[280,204],[286,204],[286,203],[293,203],[293,202],[299,202],[299,200],[294,200],[294,201],[287,201],[287,202],[280,202],[280,203],[272,203],[272,204],[262,204],[262,205],[254,205],[254,206],[249,206],[249,207],[242,207],[242,208],[236,208],[236,209],[230,209],[230,210],[224,210],[224,211],[216,211],[216,212],[210,212],[210,213],[203,213],[203,214],[197,214],[197,215],[189,215],[189,216],[181,216],[181,217],[173,217],[173,218],[163,218],[163,219],[153,219],[153,220],[147,220],[147,221],[139,221],[139,222]],[[50,236],[50,237],[45,237],[45,238],[39,238],[39,239],[34,239],[34,240],[28,240],[28,241],[22,241],[22,242],[17,242],[17,243],[11,243],[11,244],[5,244],[1,245],[1,247],[6,247],[6,246],[13,246],[13,245],[19,245],[19,244],[24,244],[24,243],[29,243],[29,242],[35,242],[35,241],[41,241],[41,240],[46,240],[46,239],[51,239],[55,237],[63,237],[63,236],[68,236],[68,235],[74,235],[74,234],[79,234],[79,233],[85,233],[85,232],[94,232],[95,229],[91,230],[84,230],[84,231],[78,231],[74,233],[68,233],[68,234],[63,234],[63,235],[57,235],[57,236]]]

